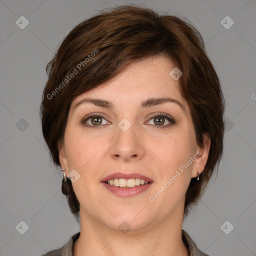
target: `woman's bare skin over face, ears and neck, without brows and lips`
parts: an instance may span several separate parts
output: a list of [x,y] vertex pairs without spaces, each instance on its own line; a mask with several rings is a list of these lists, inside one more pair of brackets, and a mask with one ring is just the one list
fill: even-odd
[[[80,175],[72,183],[80,202],[81,222],[73,255],[188,256],[181,239],[185,193],[190,179],[204,169],[210,139],[205,136],[204,146],[197,145],[190,109],[180,94],[178,80],[169,75],[173,67],[164,56],[131,63],[116,77],[72,101],[59,159],[66,175],[72,169]],[[75,108],[85,97],[111,101],[113,107],[84,103]],[[185,112],[174,102],[140,108],[140,103],[151,97],[174,98]],[[175,123],[151,117],[159,112]],[[104,116],[96,119],[99,125],[92,122],[95,118],[87,119],[86,123],[96,128],[82,124],[90,113]],[[127,131],[118,126],[123,118],[131,124]],[[201,154],[189,167],[158,198],[149,201],[197,151]],[[101,183],[113,172],[136,172],[153,183],[138,195],[120,197]],[[123,221],[130,226],[126,233],[118,228]]]

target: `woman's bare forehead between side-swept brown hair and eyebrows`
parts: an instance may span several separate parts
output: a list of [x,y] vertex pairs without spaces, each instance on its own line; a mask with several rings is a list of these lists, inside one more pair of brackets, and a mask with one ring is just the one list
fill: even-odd
[[112,107],[140,107],[145,99],[169,97],[179,101],[186,112],[188,105],[181,96],[178,80],[169,75],[173,68],[172,62],[163,56],[132,62],[115,77],[78,95],[71,107],[85,97],[105,99]]

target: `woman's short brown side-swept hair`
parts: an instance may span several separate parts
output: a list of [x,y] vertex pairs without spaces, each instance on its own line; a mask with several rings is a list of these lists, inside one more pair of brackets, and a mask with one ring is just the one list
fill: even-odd
[[[148,8],[123,5],[76,25],[46,66],[48,80],[40,106],[42,133],[53,162],[60,166],[58,143],[63,140],[71,101],[114,77],[127,64],[160,54],[183,73],[178,81],[191,110],[197,144],[203,145],[203,133],[209,134],[211,142],[200,179],[192,178],[186,191],[186,216],[188,205],[196,204],[204,193],[216,163],[218,170],[225,108],[219,79],[203,39],[188,21]],[[71,181],[67,179],[61,188],[77,217],[79,201]]]

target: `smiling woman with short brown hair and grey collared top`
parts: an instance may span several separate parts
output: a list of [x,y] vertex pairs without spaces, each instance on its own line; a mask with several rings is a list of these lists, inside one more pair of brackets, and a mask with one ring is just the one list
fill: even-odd
[[44,255],[207,255],[182,229],[223,147],[199,32],[119,6],[75,26],[46,70],[43,136],[81,230]]

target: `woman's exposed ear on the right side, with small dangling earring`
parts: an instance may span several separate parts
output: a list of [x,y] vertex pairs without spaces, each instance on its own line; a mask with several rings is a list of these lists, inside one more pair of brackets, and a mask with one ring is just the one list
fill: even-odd
[[199,175],[201,174],[201,172],[203,172],[208,159],[209,149],[210,149],[210,136],[208,133],[203,133],[203,145],[202,147],[198,147],[198,150],[196,152],[197,158],[194,161],[192,177],[197,176],[196,174],[197,171],[199,172]]

